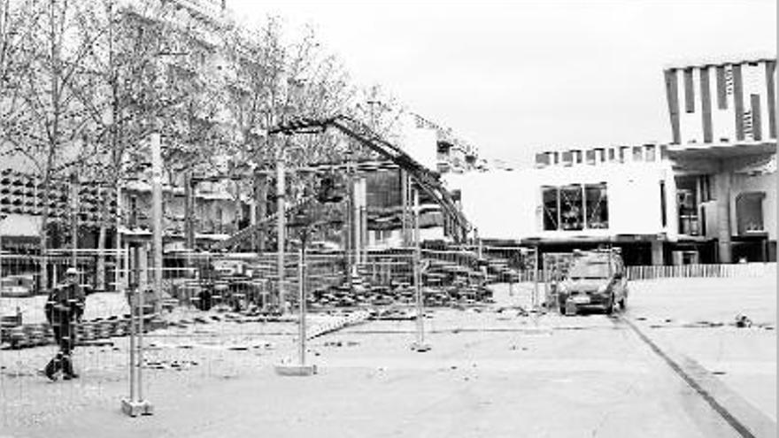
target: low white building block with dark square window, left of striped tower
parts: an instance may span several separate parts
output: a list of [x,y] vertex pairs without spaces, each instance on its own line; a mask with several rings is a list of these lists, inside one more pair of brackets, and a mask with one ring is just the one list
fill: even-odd
[[679,242],[662,145],[547,150],[535,167],[452,174],[447,182],[482,238],[544,252],[609,244],[631,265],[663,264]]

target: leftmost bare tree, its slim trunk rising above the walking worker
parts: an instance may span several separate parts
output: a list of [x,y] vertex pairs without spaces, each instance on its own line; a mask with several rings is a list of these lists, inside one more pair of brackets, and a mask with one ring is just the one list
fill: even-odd
[[[31,19],[27,21],[27,38],[20,44],[20,53],[27,59],[19,81],[23,111],[16,120],[17,129],[8,133],[7,140],[29,159],[41,180],[43,257],[48,250],[52,182],[91,155],[91,123],[75,90],[85,73],[83,61],[98,35],[79,32],[77,22],[83,6],[67,0],[33,0],[25,4]],[[43,265],[41,279],[45,288],[48,275]]]

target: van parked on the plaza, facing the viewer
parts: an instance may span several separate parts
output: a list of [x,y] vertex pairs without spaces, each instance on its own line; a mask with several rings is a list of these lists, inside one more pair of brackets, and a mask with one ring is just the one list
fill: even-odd
[[560,313],[575,314],[580,307],[599,306],[611,314],[628,304],[628,279],[622,257],[615,250],[577,253],[558,291]]

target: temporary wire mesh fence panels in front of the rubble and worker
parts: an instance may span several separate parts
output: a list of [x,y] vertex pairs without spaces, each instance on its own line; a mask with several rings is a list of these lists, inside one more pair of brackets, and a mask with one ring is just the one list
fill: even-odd
[[[513,282],[519,293],[535,272],[527,250],[484,252],[486,257],[459,249],[368,251],[359,263],[343,251],[176,254],[164,260],[160,291],[151,290],[153,268],[128,269],[120,261],[120,270],[104,271],[105,282],[122,279],[114,281],[119,290],[90,288],[84,314],[74,323],[73,363],[82,378],[69,382],[62,376],[50,382],[40,373],[58,351],[43,314],[45,291],[2,296],[0,424],[32,424],[73,406],[118,405],[130,390],[134,348],[132,361],[143,375],[135,390],[152,402],[203,380],[239,377],[294,356],[301,285],[306,338],[312,338],[368,317],[413,320],[420,309],[480,305],[492,300],[490,282]],[[89,258],[80,265],[82,285],[94,283],[86,274],[95,270]],[[4,259],[4,273],[35,272],[35,265],[24,265],[29,260],[10,260]],[[109,255],[105,260],[112,265]],[[69,263],[66,257],[57,269]],[[141,319],[143,341],[133,344],[131,325],[141,330]]]

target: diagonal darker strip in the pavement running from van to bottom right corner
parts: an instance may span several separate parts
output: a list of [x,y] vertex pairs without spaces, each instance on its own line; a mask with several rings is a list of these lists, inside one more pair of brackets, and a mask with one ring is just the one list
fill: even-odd
[[676,353],[668,348],[660,348],[658,342],[653,341],[648,335],[627,318],[622,318],[630,328],[661,357],[667,365],[679,374],[680,377],[695,389],[706,403],[716,411],[722,419],[732,426],[736,432],[744,438],[773,438],[776,434],[776,423],[766,414],[752,406],[732,389],[728,388],[713,373],[698,364],[694,359]]

